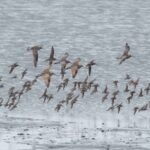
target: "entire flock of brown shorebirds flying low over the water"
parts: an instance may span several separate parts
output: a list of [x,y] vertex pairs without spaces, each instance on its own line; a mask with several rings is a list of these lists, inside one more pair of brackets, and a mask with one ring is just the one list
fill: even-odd
[[[33,46],[27,48],[27,51],[32,51],[33,55],[33,66],[36,68],[38,66],[38,51],[41,50],[41,46]],[[125,48],[123,53],[117,57],[117,60],[119,60],[119,64],[122,64],[125,62],[127,59],[131,58],[132,55],[129,54],[130,52],[130,46],[128,43],[125,44]],[[54,99],[53,94],[48,93],[48,88],[50,87],[50,83],[52,80],[53,75],[55,76],[56,74],[52,72],[52,67],[55,65],[60,65],[60,77],[61,77],[61,82],[59,85],[56,86],[57,92],[60,90],[64,90],[67,86],[68,83],[71,83],[72,87],[70,91],[65,95],[65,98],[56,105],[54,108],[55,111],[59,112],[61,108],[66,105],[69,106],[71,109],[74,107],[75,103],[79,101],[79,98],[84,98],[85,94],[88,92],[90,95],[93,95],[95,93],[98,93],[98,88],[99,84],[96,83],[96,79],[90,80],[90,76],[92,73],[92,67],[97,65],[95,60],[91,60],[88,62],[86,65],[81,65],[81,59],[76,58],[75,61],[71,62],[68,60],[69,54],[66,52],[63,54],[63,56],[60,59],[55,58],[55,50],[54,47],[52,46],[51,51],[50,51],[50,56],[47,58],[45,61],[47,62],[47,67],[37,74],[33,80],[27,80],[24,82],[22,85],[22,88],[20,90],[16,90],[16,87],[12,86],[8,90],[8,99],[4,100],[4,98],[0,97],[0,106],[7,107],[9,110],[15,109],[21,99],[21,96],[27,92],[29,92],[34,84],[37,82],[38,79],[43,79],[44,84],[45,84],[45,89],[44,92],[39,96],[39,99],[43,99],[43,103],[48,103],[52,99]],[[14,63],[10,65],[10,71],[9,74],[13,74],[14,70],[19,66],[18,63]],[[76,79],[76,76],[81,68],[86,68],[87,69],[87,76],[83,81],[75,81],[73,79]],[[66,74],[69,73],[69,70],[71,72],[71,78],[66,77]],[[24,77],[27,75],[28,69],[25,68],[24,71],[21,73],[21,80],[24,80]],[[2,81],[2,78],[0,78],[0,82]],[[133,100],[133,97],[140,98],[144,97],[145,95],[149,95],[150,91],[150,83],[148,83],[145,88],[140,88],[140,91],[137,91],[137,86],[140,82],[140,78],[137,79],[132,79],[129,74],[126,74],[126,77],[124,78],[126,81],[126,85],[124,90],[122,91],[123,93],[127,93],[127,98],[125,100],[126,103],[130,104]],[[122,107],[124,107],[123,103],[118,103],[117,96],[120,94],[121,91],[119,91],[118,80],[112,81],[115,91],[110,93],[108,85],[102,89],[102,99],[101,102],[105,103],[105,101],[110,103],[110,107],[106,109],[106,111],[114,111],[116,110],[117,113],[120,113],[122,110]],[[1,84],[0,88],[3,88],[4,85]],[[75,92],[77,94],[75,94]],[[110,98],[108,98],[110,96]],[[133,114],[135,115],[137,112],[141,111],[146,111],[150,108],[150,102],[148,101],[146,104],[143,104],[142,106],[135,106],[133,108]]]

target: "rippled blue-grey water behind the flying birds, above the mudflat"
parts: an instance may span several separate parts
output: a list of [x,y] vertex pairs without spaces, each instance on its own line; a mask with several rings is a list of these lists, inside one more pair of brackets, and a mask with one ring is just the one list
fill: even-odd
[[[125,102],[127,95],[121,93],[118,103],[123,103],[123,110],[119,115],[117,112],[106,112],[110,106],[109,101],[101,103],[101,91],[106,84],[111,92],[114,91],[113,80],[119,80],[119,90],[124,90],[126,73],[133,79],[140,78],[137,91],[150,82],[149,14],[149,0],[1,0],[0,75],[3,76],[5,87],[0,91],[4,99],[8,98],[8,89],[12,85],[19,89],[24,81],[33,79],[45,68],[44,60],[49,56],[51,46],[54,46],[57,58],[68,52],[71,60],[80,57],[84,65],[94,59],[97,65],[93,67],[90,78],[96,78],[100,84],[98,93],[92,96],[86,94],[73,109],[64,107],[56,113],[54,108],[63,100],[69,87],[65,92],[57,93],[56,86],[61,78],[53,77],[49,92],[54,93],[54,99],[49,104],[43,104],[39,97],[45,85],[39,79],[33,90],[22,97],[14,111],[1,107],[1,116],[7,114],[50,120],[70,120],[70,116],[71,119],[82,120],[84,117],[115,127],[120,119],[123,127],[133,126],[136,122],[139,127],[149,128],[149,110],[133,115],[133,107],[146,104],[150,100],[149,95],[140,99],[136,96],[128,105]],[[116,57],[123,52],[126,42],[131,47],[133,57],[118,65]],[[27,47],[34,45],[43,46],[39,52],[37,68],[33,67],[31,53],[26,51]],[[8,66],[14,62],[18,62],[20,67],[9,75]],[[58,66],[53,68],[55,73],[59,73]],[[28,74],[21,81],[21,72],[25,68],[28,68]],[[86,72],[85,69],[79,71],[77,79],[83,80]],[[12,79],[15,74],[18,78]],[[72,80],[69,73],[67,77]]]

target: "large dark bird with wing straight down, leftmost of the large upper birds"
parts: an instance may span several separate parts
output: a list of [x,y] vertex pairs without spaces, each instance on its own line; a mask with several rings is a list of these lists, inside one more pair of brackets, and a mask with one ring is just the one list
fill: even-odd
[[34,67],[37,67],[37,62],[38,62],[38,51],[42,49],[41,46],[33,46],[31,48],[27,48],[27,51],[32,50],[32,55],[33,55],[33,65]]

